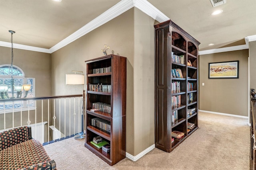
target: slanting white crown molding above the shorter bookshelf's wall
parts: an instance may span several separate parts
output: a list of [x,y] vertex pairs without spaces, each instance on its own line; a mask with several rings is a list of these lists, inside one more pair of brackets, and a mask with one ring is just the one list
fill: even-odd
[[71,35],[60,41],[58,44],[50,48],[51,53],[68,45],[69,43],[72,43],[76,39],[82,37],[83,35],[96,29],[97,27],[100,27],[104,23],[107,23],[108,21],[126,12],[132,7],[134,7],[133,0],[121,0],[110,9],[106,10],[106,12],[102,13],[100,16],[90,21],[88,24],[84,25],[82,28],[78,29],[76,32],[72,33]]

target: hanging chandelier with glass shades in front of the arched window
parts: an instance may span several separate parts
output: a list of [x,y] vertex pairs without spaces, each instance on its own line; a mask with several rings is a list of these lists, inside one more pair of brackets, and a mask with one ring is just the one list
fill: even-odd
[[[9,30],[9,32],[13,35],[15,31]],[[23,96],[26,98],[28,96],[28,91],[30,90],[31,84],[18,84],[16,85],[14,83],[14,78],[13,78],[13,43],[12,43],[12,35],[11,35],[11,80],[10,80],[10,86],[8,85],[0,85],[0,98],[1,99],[7,99],[7,98],[21,98],[22,97],[22,90],[24,89],[25,95]],[[11,96],[9,96],[8,92],[9,89],[11,91]],[[16,91],[16,97],[14,96],[14,91]]]

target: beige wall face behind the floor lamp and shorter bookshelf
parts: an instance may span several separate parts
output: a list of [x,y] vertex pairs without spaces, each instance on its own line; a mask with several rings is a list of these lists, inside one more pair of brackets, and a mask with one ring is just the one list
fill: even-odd
[[82,94],[82,86],[65,84],[65,74],[86,74],[84,61],[103,56],[104,44],[110,46],[108,54],[127,57],[126,152],[134,155],[134,8],[52,53],[52,95]]

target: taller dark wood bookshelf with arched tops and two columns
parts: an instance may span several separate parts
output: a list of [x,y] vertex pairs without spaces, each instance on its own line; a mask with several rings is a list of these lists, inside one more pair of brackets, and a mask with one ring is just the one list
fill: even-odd
[[154,27],[155,145],[171,152],[198,129],[200,43],[171,20]]

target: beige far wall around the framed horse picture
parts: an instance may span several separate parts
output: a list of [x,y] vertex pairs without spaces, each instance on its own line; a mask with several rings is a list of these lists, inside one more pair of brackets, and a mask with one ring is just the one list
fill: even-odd
[[[248,116],[248,56],[247,49],[200,55],[200,110]],[[208,63],[237,60],[239,78],[208,78]]]

